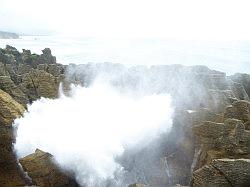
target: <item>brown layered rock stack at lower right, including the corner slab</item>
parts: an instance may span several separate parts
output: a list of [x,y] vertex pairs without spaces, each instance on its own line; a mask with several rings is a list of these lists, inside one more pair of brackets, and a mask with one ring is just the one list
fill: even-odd
[[223,122],[205,121],[192,128],[197,143],[191,186],[250,184],[248,121],[249,102],[239,100],[226,108]]

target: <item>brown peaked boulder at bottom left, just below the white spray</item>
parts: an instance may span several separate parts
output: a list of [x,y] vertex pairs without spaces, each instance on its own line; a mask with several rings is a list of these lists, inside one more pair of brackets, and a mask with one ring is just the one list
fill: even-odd
[[62,172],[53,162],[53,156],[39,149],[19,159],[24,171],[40,187],[76,187],[74,180]]

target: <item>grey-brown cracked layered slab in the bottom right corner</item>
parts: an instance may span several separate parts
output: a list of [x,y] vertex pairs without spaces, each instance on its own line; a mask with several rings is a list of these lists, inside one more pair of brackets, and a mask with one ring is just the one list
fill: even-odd
[[248,187],[250,159],[215,159],[193,173],[194,187]]

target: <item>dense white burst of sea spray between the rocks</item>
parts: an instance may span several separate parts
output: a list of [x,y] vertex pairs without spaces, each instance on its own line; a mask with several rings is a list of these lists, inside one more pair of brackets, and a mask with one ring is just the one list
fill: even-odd
[[124,150],[143,148],[172,125],[167,94],[133,96],[95,81],[72,87],[70,97],[42,98],[28,107],[18,127],[15,150],[23,157],[39,148],[76,175],[81,185],[103,186],[122,167]]

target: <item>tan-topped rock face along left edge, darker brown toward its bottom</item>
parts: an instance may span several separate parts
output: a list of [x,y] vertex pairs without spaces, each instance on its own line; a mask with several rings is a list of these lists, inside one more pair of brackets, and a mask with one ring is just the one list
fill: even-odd
[[15,187],[25,184],[19,171],[12,143],[15,141],[12,122],[24,112],[22,105],[0,90],[0,186]]

